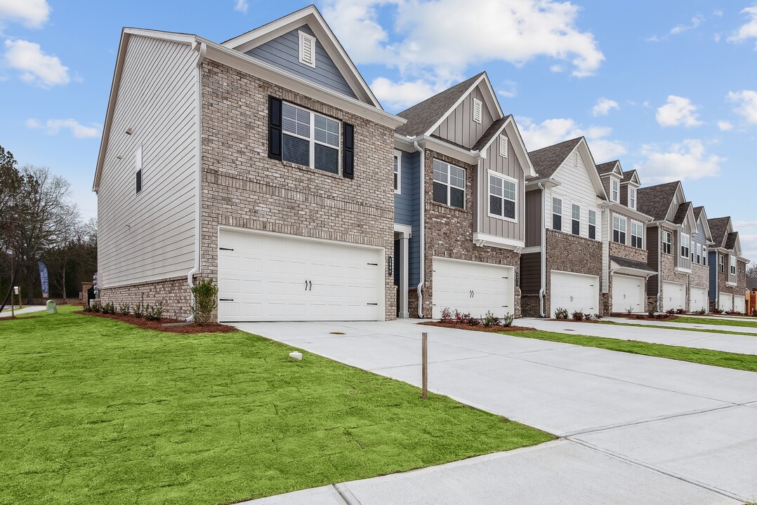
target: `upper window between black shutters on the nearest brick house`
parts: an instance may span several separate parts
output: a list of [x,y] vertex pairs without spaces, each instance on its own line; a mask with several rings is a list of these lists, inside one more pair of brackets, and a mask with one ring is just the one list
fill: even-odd
[[339,173],[339,122],[292,104],[282,105],[284,161]]

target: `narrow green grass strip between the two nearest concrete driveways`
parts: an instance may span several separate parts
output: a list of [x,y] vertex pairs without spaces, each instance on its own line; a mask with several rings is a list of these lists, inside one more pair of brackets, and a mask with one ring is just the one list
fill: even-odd
[[584,345],[609,351],[630,352],[631,354],[656,356],[691,363],[709,364],[715,367],[733,368],[757,372],[757,356],[742,355],[735,352],[711,351],[709,349],[693,349],[678,345],[654,344],[639,342],[638,340],[610,339],[602,336],[565,335],[549,331],[519,331],[501,332],[504,335],[522,336],[528,339],[548,340],[565,344]]

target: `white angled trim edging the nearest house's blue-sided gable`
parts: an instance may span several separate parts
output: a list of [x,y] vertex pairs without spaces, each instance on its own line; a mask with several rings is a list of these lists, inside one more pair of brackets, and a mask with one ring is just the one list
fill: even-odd
[[[350,57],[347,56],[347,52],[344,51],[341,43],[332,32],[332,29],[329,28],[326,20],[323,19],[315,5],[308,5],[306,8],[288,14],[285,17],[281,17],[278,20],[260,26],[247,33],[243,33],[233,39],[229,39],[226,42],[223,42],[223,46],[242,53],[251,54],[251,51],[254,53],[255,48],[259,48],[267,42],[285,36],[304,25],[307,25],[312,31],[316,40],[321,45],[323,53],[328,55],[335,70],[338,70],[338,73],[354,93],[354,96],[360,101],[371,104],[378,109],[382,109],[382,106],[378,103],[373,91],[368,87],[368,84],[365,82],[365,79],[363,79],[363,76],[360,75],[360,72],[358,72],[357,67],[352,63]],[[258,50],[258,52],[262,51],[262,49]],[[316,53],[316,70],[318,70],[317,61],[318,54]],[[326,64],[326,61],[324,60],[323,63]]]

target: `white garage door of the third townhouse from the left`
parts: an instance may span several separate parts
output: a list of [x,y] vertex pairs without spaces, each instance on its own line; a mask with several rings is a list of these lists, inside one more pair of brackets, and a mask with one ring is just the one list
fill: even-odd
[[569,316],[574,311],[584,314],[600,312],[600,277],[596,275],[573,274],[550,271],[550,317],[556,308],[565,308]]

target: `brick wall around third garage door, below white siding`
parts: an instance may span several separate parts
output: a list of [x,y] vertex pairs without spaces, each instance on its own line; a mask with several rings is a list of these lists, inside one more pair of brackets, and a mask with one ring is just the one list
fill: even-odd
[[[602,243],[562,231],[547,230],[547,287],[544,290],[544,314],[554,316],[550,304],[551,272],[553,270],[575,274],[596,275],[602,279]],[[601,293],[601,291],[600,291]],[[538,300],[538,296],[537,296]],[[600,314],[603,298],[600,296]],[[538,308],[537,308],[538,311]]]

